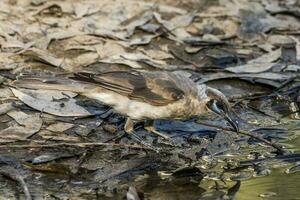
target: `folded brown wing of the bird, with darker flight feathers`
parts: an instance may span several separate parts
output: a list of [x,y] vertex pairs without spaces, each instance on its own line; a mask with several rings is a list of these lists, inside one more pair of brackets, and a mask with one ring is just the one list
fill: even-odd
[[76,73],[73,80],[96,84],[141,102],[163,106],[184,97],[184,91],[169,73],[107,72],[98,75]]

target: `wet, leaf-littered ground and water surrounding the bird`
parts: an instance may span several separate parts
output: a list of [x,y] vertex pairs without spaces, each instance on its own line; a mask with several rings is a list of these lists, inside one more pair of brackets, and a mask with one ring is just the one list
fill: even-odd
[[[0,199],[300,199],[299,1],[0,1]],[[21,74],[167,70],[224,92],[165,140]],[[249,134],[266,141],[249,137]],[[248,134],[248,136],[245,136]],[[271,145],[270,145],[271,144]],[[280,151],[272,145],[279,145]]]

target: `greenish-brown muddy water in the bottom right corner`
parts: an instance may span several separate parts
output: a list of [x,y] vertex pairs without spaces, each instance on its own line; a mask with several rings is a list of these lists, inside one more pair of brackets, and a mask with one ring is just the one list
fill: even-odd
[[[295,153],[295,157],[286,159],[267,159],[258,164],[261,170],[254,172],[252,167],[239,172],[226,172],[223,180],[215,176],[221,168],[208,170],[201,182],[191,178],[187,183],[178,181],[162,181],[161,178],[149,177],[148,184],[143,188],[149,199],[237,199],[237,200],[296,200],[300,199],[300,130],[299,121],[282,120],[289,132],[282,136],[279,143],[287,151]],[[282,127],[282,125],[281,125]],[[247,152],[247,150],[245,150]],[[219,157],[224,160],[232,155]],[[239,156],[238,156],[239,157]],[[235,157],[237,158],[237,157]],[[245,157],[240,155],[241,160]],[[246,159],[247,160],[247,159]],[[205,170],[203,170],[205,171]],[[211,173],[211,174],[210,174]],[[181,181],[181,180],[180,180]],[[179,182],[180,182],[179,181]],[[175,182],[175,183],[174,183]],[[184,181],[183,181],[184,182]]]

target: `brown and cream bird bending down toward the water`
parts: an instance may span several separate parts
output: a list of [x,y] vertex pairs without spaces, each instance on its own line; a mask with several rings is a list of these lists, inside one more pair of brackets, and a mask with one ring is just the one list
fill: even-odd
[[76,72],[66,76],[20,75],[13,87],[72,91],[95,99],[127,116],[124,131],[147,145],[134,132],[134,123],[146,121],[146,129],[159,134],[153,120],[187,120],[214,112],[238,132],[232,108],[226,96],[189,77],[167,71]]

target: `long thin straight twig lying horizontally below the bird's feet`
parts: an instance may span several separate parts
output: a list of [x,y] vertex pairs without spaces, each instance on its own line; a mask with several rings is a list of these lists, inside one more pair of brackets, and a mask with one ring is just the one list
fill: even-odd
[[[39,142],[39,141],[35,141]],[[43,141],[40,141],[43,142]],[[96,147],[96,146],[111,146],[111,147],[121,147],[121,148],[133,148],[133,149],[145,149],[145,150],[153,150],[149,147],[143,147],[139,145],[129,145],[129,144],[115,144],[115,143],[103,143],[103,142],[83,142],[83,143],[55,143],[55,144],[7,144],[0,145],[0,148],[53,148],[53,147]]]

